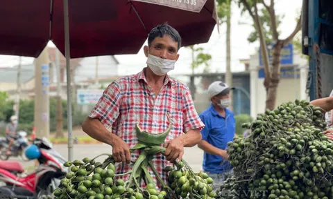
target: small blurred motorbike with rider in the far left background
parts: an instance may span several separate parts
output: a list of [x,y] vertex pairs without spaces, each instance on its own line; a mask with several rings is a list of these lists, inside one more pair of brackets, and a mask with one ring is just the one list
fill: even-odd
[[7,154],[9,140],[7,138],[0,138],[0,160],[8,160],[10,156],[21,157],[23,160],[27,160],[24,155],[24,149],[28,146],[26,135],[25,131],[17,132],[17,139],[10,146],[10,155]]

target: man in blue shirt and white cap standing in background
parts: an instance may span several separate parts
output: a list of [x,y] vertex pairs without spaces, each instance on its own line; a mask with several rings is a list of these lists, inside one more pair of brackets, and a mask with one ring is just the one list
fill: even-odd
[[205,124],[201,130],[203,140],[198,144],[205,151],[203,170],[214,180],[214,189],[219,189],[226,176],[232,174],[232,166],[228,162],[227,143],[234,139],[234,114],[230,106],[230,89],[224,82],[213,82],[208,88],[212,101],[209,108],[201,113],[200,119]]

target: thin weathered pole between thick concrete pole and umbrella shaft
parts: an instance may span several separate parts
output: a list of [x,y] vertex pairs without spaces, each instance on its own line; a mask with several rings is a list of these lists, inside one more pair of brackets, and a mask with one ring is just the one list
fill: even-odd
[[61,78],[60,78],[60,57],[59,50],[56,48],[56,73],[57,73],[57,129],[56,129],[56,138],[64,138],[64,131],[62,131],[62,100],[61,100]]

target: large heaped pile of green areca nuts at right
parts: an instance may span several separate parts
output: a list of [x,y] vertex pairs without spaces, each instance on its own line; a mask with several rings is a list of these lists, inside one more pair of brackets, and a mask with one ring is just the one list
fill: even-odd
[[321,108],[296,100],[243,126],[252,132],[228,143],[234,175],[216,198],[333,198],[333,143]]

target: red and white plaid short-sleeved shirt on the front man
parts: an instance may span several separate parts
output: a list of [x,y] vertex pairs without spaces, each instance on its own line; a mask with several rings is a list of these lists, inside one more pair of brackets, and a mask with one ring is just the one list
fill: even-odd
[[[98,118],[106,129],[119,136],[132,148],[138,142],[135,134],[136,122],[139,121],[139,126],[144,131],[160,133],[169,126],[167,113],[171,117],[173,126],[166,142],[177,138],[183,132],[186,133],[191,129],[201,130],[205,126],[196,113],[187,86],[167,76],[160,93],[156,96],[153,89],[148,86],[142,70],[136,75],[121,77],[112,82],[105,89],[89,117]],[[139,151],[132,153],[131,160],[137,160],[138,156]],[[153,163],[164,182],[167,182],[167,173],[162,169],[171,163],[162,154],[155,155]],[[126,173],[132,167],[132,163],[117,163],[116,173]],[[148,171],[160,187],[149,167]],[[127,180],[128,177],[129,175],[119,178]]]

